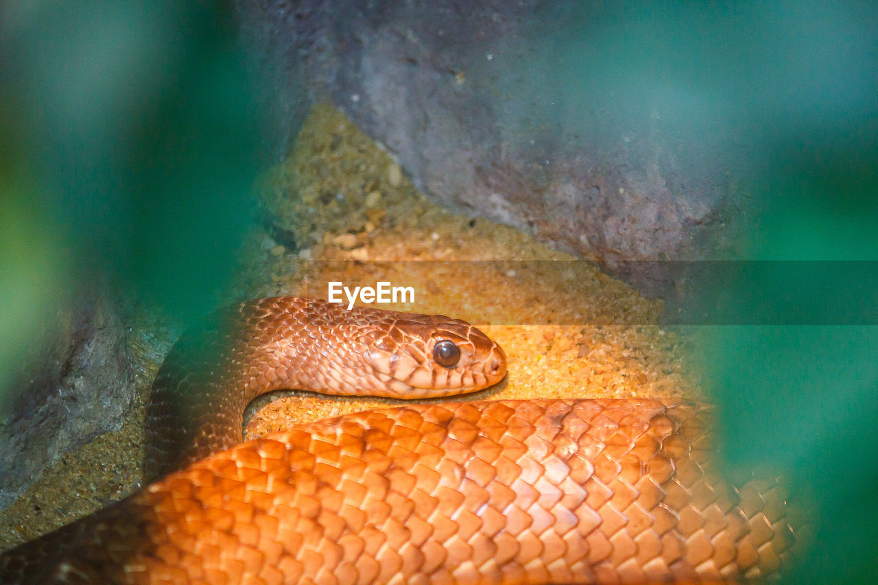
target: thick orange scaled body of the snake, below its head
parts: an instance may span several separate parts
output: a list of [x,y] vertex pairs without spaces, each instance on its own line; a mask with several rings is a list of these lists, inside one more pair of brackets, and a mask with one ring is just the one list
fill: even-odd
[[[271,315],[263,318],[279,318]],[[241,345],[223,354],[227,365],[277,358]],[[489,361],[492,354],[501,355],[491,347]],[[0,557],[0,581],[567,583],[771,574],[792,545],[784,490],[720,478],[708,426],[704,406],[644,399],[346,415],[171,473]]]

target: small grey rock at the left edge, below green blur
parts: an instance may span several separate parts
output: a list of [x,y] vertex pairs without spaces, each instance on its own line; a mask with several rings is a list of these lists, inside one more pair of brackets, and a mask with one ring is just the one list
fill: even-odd
[[0,422],[0,509],[64,452],[118,430],[133,398],[117,304],[90,293],[45,322],[40,357],[22,369]]

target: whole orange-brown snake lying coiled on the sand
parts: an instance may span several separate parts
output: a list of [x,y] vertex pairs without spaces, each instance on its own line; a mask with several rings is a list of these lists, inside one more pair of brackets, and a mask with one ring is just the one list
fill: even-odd
[[725,479],[678,399],[428,401],[241,442],[277,388],[436,398],[507,376],[465,321],[277,297],[184,332],[145,488],[0,556],[4,583],[724,581],[794,558],[788,489]]

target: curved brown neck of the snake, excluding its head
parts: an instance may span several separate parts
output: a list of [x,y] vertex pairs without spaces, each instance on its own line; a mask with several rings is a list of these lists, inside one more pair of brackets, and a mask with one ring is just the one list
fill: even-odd
[[177,340],[147,408],[144,480],[240,443],[244,409],[256,396],[320,390],[309,373],[314,340],[301,327],[311,319],[309,302],[289,297],[227,307]]

